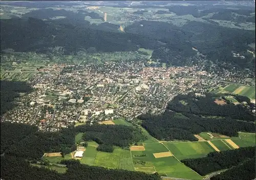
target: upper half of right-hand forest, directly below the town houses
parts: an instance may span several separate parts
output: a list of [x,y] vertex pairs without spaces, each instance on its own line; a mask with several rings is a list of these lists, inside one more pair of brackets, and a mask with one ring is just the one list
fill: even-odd
[[[255,121],[252,113],[242,105],[227,104],[220,106],[214,102],[218,98],[219,96],[211,93],[206,93],[206,97],[196,96],[194,93],[188,95],[179,94],[169,102],[167,109],[197,115],[222,116],[244,121]],[[240,96],[238,96],[238,99],[247,101],[247,98],[241,98]],[[181,101],[185,101],[187,105],[183,105]]]

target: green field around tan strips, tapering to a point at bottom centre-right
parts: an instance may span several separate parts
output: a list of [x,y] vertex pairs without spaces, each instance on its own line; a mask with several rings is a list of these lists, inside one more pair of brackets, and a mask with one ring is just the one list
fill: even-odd
[[[157,171],[160,175],[202,179],[203,177],[179,162],[175,157],[155,158],[153,153],[166,152],[168,149],[161,143],[147,143],[144,145],[144,151],[131,151],[134,160],[134,166],[137,171],[153,173]],[[147,155],[146,157],[134,157],[134,155]],[[136,162],[145,162],[145,165]]]

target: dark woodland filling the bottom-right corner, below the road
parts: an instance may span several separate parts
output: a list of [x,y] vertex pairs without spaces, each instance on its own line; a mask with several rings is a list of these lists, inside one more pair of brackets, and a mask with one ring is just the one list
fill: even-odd
[[211,177],[211,180],[251,180],[255,178],[255,157]]

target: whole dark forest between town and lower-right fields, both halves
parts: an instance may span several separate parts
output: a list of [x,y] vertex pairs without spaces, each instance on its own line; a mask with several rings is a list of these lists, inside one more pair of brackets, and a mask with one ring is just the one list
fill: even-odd
[[198,141],[194,134],[201,132],[220,133],[230,137],[238,136],[239,131],[255,132],[254,123],[246,122],[254,121],[254,116],[247,112],[246,108],[231,104],[217,105],[214,102],[216,97],[219,96],[207,94],[206,97],[199,97],[193,93],[180,94],[169,102],[163,114],[142,114],[138,118],[153,137],[167,141]]

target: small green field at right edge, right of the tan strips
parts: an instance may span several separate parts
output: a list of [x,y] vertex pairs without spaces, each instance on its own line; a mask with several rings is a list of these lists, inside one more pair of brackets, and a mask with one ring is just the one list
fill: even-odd
[[239,147],[255,146],[255,133],[239,133],[241,139],[232,139]]

